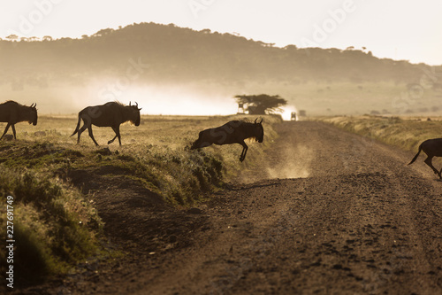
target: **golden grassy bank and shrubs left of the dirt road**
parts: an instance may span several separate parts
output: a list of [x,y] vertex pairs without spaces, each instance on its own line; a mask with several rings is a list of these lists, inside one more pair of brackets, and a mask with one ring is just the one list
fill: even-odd
[[[123,146],[116,141],[109,151],[103,148],[114,136],[110,128],[94,128],[101,147],[95,147],[87,132],[76,144],[76,136],[70,137],[77,123],[75,116],[41,117],[35,127],[18,124],[19,139],[0,142],[0,198],[4,204],[0,220],[6,224],[6,196],[11,195],[18,279],[40,280],[35,274],[65,273],[81,260],[103,256],[102,222],[94,204],[80,187],[72,185],[72,172],[86,170],[94,175],[106,167],[110,172],[101,176],[113,179],[113,170],[124,170],[124,177],[156,192],[165,203],[190,206],[202,201],[204,192],[235,179],[241,170],[253,169],[277,136],[272,126],[280,119],[266,116],[264,142],[250,144],[243,163],[239,161],[239,144],[189,151],[200,130],[233,118],[146,116],[138,128],[123,125]],[[0,229],[2,237],[5,228]],[[5,250],[0,250],[0,260],[4,261],[5,255]],[[4,273],[3,265],[1,271]]]

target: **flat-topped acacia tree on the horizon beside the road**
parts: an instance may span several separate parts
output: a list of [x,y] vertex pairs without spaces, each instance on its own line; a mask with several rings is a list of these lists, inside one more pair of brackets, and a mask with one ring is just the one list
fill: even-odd
[[267,94],[260,95],[238,95],[234,97],[238,104],[243,104],[247,108],[249,114],[266,114],[282,112],[281,106],[286,105],[286,99]]

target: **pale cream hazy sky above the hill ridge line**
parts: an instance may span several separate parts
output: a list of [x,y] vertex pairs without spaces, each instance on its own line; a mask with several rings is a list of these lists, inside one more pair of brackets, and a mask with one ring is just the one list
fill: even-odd
[[442,65],[441,0],[20,0],[0,3],[0,37],[73,37],[140,22],[237,33],[276,46],[356,49]]

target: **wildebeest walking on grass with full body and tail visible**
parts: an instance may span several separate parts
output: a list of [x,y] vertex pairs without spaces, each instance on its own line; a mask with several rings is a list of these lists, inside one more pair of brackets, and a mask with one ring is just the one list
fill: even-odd
[[[121,145],[121,136],[119,135],[119,125],[126,121],[131,121],[135,126],[140,125],[140,110],[138,104],[136,105],[122,105],[118,102],[110,102],[104,105],[88,106],[80,111],[79,121],[77,123],[77,128],[73,131],[72,136],[76,133],[79,134],[77,139],[77,144],[80,143],[80,136],[84,130],[88,129],[89,136],[94,141],[94,144],[98,146],[95,141],[94,135],[92,134],[92,125],[98,127],[110,127],[115,132],[115,137],[113,137],[108,144],[113,143],[115,138],[118,137],[119,145]],[[83,120],[84,124],[80,128],[80,120]]]

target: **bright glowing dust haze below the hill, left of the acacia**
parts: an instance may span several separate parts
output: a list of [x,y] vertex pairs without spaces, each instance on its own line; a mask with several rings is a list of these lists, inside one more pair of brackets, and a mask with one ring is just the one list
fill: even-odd
[[[22,91],[21,95],[32,97],[30,90]],[[20,100],[19,97],[11,98]],[[112,80],[97,80],[84,87],[64,85],[45,89],[44,93],[30,98],[28,105],[37,102],[41,114],[78,113],[86,106],[103,105],[110,101],[124,105],[137,102],[142,108],[141,114],[149,115],[229,115],[238,110],[232,94],[222,91],[173,84],[133,83],[122,87]]]

